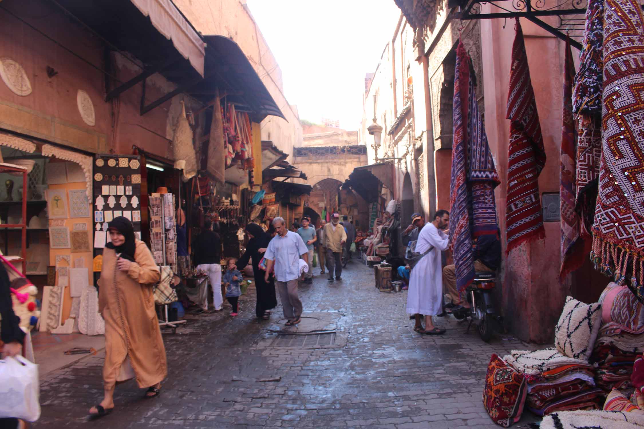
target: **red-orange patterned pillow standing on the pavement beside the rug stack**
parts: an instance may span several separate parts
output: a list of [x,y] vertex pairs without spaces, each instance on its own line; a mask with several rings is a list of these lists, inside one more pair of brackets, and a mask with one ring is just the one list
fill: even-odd
[[516,372],[506,361],[492,354],[483,390],[483,406],[494,423],[504,428],[516,423],[526,403],[527,385],[524,374]]

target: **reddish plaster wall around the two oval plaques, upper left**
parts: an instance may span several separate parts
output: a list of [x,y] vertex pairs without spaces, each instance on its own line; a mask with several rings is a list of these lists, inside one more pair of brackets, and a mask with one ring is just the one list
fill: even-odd
[[[7,7],[88,62],[104,68],[102,42],[65,17],[52,3],[25,0],[8,3]],[[21,129],[20,132],[46,139],[53,137],[73,141],[74,133],[78,132],[77,147],[92,152],[129,154],[132,152],[132,145],[138,145],[161,156],[169,155],[168,140],[156,134],[166,136],[170,101],[140,116],[138,112],[142,87],[138,84],[122,93],[114,105],[105,102],[106,90],[101,71],[1,10],[0,20],[3,23],[0,26],[0,57],[9,57],[19,62],[32,84],[30,95],[18,96],[0,82],[0,104],[3,104],[3,109],[24,111],[20,113],[22,116],[15,116],[15,119],[3,114],[0,122],[13,123]],[[47,66],[55,69],[57,75],[49,78],[46,74]],[[118,78],[125,82],[137,70],[117,69]],[[153,81],[149,81],[151,80]],[[111,85],[114,87],[118,82]],[[96,116],[94,126],[87,125],[81,118],[76,101],[79,89],[86,91],[93,102]],[[147,102],[155,100],[166,91],[167,88],[149,84]],[[66,130],[62,132],[68,134],[61,136],[61,131],[55,125],[48,125],[47,120],[54,123],[60,121],[64,125],[61,128]],[[85,135],[88,137],[78,137]]]

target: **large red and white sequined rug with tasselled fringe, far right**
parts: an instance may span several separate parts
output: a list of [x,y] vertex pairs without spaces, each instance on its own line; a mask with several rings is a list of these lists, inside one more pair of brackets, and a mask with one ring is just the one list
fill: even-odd
[[599,194],[592,224],[597,268],[644,302],[644,27],[634,0],[603,10]]

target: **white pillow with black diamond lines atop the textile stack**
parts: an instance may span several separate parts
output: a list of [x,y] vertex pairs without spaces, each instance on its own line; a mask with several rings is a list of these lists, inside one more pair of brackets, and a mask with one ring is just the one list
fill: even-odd
[[554,328],[554,346],[565,356],[585,359],[591,356],[601,325],[601,304],[584,304],[566,297],[564,311]]

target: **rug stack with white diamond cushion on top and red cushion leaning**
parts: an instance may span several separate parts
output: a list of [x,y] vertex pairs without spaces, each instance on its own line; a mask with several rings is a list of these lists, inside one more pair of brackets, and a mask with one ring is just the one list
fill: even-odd
[[[493,355],[483,393],[493,421],[507,427],[520,419],[526,405],[538,415],[601,408],[603,391],[596,387],[595,368],[589,363],[600,324],[599,303],[567,297],[554,348],[512,351],[503,359]],[[507,383],[509,379],[513,383]]]

